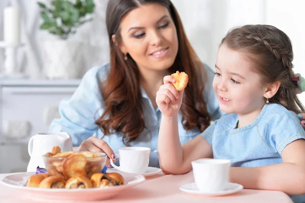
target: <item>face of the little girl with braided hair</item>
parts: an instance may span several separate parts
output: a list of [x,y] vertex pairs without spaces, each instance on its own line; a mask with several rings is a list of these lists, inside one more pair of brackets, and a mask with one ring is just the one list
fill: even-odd
[[222,44],[217,53],[213,89],[220,101],[220,108],[227,113],[249,114],[261,111],[266,88],[255,64]]

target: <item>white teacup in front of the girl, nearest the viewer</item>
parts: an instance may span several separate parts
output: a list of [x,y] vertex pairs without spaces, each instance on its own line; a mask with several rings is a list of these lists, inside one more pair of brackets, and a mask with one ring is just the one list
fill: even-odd
[[224,190],[229,182],[231,162],[226,159],[199,159],[192,161],[197,188],[204,192]]

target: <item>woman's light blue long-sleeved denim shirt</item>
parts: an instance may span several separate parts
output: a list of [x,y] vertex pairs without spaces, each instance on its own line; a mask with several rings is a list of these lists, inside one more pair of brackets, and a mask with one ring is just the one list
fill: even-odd
[[[207,110],[211,114],[212,119],[219,119],[222,111],[219,108],[217,97],[212,90],[214,72],[206,65],[205,67],[207,69],[207,83],[202,95],[206,99]],[[98,138],[103,137],[103,133],[95,124],[95,120],[100,117],[104,110],[104,98],[100,93],[99,83],[107,79],[109,68],[109,64],[105,64],[104,66],[94,67],[87,71],[72,97],[60,102],[59,112],[61,118],[52,121],[49,128],[50,132],[69,133],[72,137],[73,146],[79,146],[82,141],[93,135]],[[161,111],[153,107],[143,88],[141,88],[141,93],[143,97],[142,109],[147,128],[130,145],[150,148],[149,165],[159,167],[157,150]],[[95,115],[96,112],[97,114]],[[181,114],[179,114],[178,119],[179,121],[182,120]],[[178,128],[181,144],[190,141],[200,134],[197,128],[189,131],[185,130],[181,122],[179,122]],[[103,140],[109,144],[115,153],[117,153],[118,148],[125,147],[119,133],[104,136]]]

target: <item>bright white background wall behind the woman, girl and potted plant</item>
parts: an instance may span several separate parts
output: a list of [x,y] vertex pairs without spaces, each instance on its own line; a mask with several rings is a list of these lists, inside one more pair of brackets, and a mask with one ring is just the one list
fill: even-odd
[[[22,42],[26,46],[18,54],[19,69],[30,78],[43,77],[42,44],[54,37],[39,30],[41,19],[36,0],[1,0],[0,27],[3,26],[3,8],[15,2],[22,10]],[[40,0],[49,2],[49,0]],[[85,67],[108,61],[108,41],[105,27],[107,0],[95,0],[96,12],[93,22],[80,27],[72,39],[82,40],[85,49]],[[243,24],[272,24],[286,32],[294,49],[295,72],[305,75],[305,1],[299,0],[172,0],[176,6],[186,33],[200,59],[214,68],[218,45],[230,28]],[[0,29],[1,31],[1,29]],[[3,33],[0,32],[0,40]],[[4,52],[0,49],[0,70],[3,69]],[[305,95],[300,98],[305,102]]]

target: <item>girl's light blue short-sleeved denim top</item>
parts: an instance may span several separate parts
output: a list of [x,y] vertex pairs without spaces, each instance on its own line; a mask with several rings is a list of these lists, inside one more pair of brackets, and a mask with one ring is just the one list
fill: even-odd
[[[279,104],[265,104],[256,120],[236,128],[237,114],[225,114],[201,135],[212,146],[216,159],[229,159],[232,167],[255,167],[283,163],[282,151],[305,131],[296,113]],[[305,202],[304,195],[292,196]]]

